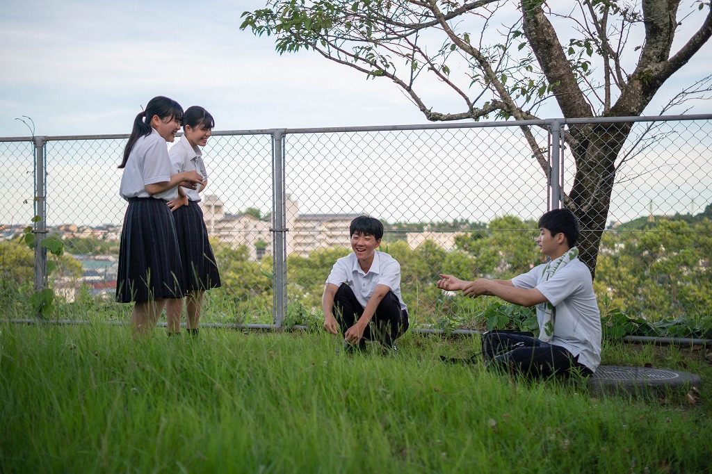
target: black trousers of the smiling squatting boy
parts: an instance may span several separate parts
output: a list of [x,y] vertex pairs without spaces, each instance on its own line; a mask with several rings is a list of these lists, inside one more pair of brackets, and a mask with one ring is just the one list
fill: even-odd
[[[342,283],[334,296],[334,310],[334,317],[343,335],[363,315],[364,307],[356,299],[351,287]],[[376,307],[375,315],[364,330],[359,345],[364,347],[366,341],[378,341],[385,347],[392,347],[393,342],[408,330],[408,326],[408,312],[401,310],[398,297],[389,291]]]

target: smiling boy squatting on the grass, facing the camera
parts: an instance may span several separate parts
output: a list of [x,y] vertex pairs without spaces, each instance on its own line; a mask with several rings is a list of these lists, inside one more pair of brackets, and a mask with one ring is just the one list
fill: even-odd
[[366,341],[380,342],[384,350],[408,329],[408,312],[400,294],[400,265],[381,245],[383,224],[359,216],[349,226],[353,253],[336,260],[326,280],[322,307],[324,329],[341,331],[347,349],[364,349]]

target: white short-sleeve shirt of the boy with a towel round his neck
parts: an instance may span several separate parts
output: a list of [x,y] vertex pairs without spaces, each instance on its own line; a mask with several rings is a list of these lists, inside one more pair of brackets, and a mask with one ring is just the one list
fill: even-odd
[[[559,268],[548,280],[545,264],[512,278],[517,288],[536,288],[555,307],[551,344],[564,347],[579,357],[578,362],[595,371],[601,362],[601,313],[588,267],[578,258]],[[537,305],[539,330],[546,304]]]

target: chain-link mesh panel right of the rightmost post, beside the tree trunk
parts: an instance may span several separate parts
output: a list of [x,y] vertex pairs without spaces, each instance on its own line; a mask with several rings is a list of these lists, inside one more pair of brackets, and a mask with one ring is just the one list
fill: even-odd
[[[708,120],[597,124],[615,181],[597,259],[604,310],[649,320],[712,313],[712,164]],[[591,127],[591,125],[585,125]],[[575,142],[571,142],[575,144]],[[577,159],[565,152],[565,185]],[[594,174],[595,176],[595,174]],[[597,206],[600,203],[592,203]],[[604,208],[600,206],[600,212]]]

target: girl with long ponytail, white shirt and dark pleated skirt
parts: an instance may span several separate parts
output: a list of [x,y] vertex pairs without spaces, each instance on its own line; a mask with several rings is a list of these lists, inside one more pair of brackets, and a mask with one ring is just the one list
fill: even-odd
[[128,206],[119,248],[116,300],[135,302],[131,322],[136,334],[155,327],[169,298],[184,296],[183,272],[175,225],[167,201],[178,196],[178,185],[199,186],[192,170],[172,173],[167,142],[180,130],[183,108],[158,96],[134,120],[119,168],[120,195]]

